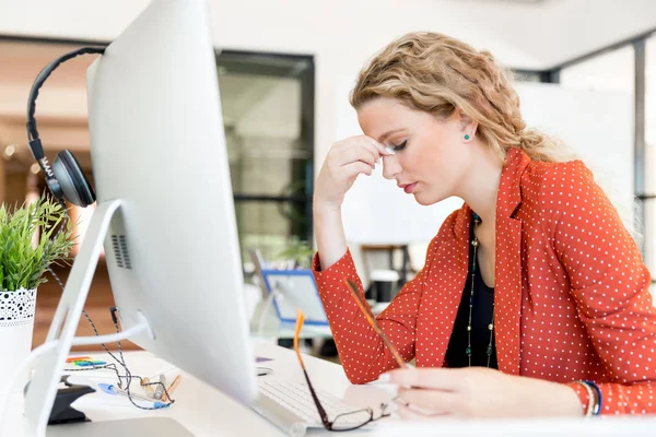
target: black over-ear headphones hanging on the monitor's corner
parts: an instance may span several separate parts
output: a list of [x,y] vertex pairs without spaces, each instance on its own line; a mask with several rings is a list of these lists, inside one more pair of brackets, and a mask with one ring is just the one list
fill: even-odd
[[46,175],[46,184],[50,192],[52,192],[55,198],[62,204],[66,199],[75,205],[86,208],[95,202],[95,191],[84,175],[84,172],[82,172],[80,163],[78,163],[78,160],[75,160],[75,156],[73,156],[70,151],[65,150],[59,152],[52,163],[52,167],[50,167],[36,129],[36,120],[34,118],[36,97],[48,76],[62,62],[80,55],[102,55],[104,52],[104,48],[83,47],[55,59],[38,73],[32,85],[32,90],[30,91],[30,97],[27,98],[27,139],[30,140],[30,150]]

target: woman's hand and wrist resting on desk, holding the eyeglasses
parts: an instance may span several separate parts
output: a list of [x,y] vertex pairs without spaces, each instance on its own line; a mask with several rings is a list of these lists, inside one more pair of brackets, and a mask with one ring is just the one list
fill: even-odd
[[403,418],[583,415],[570,387],[485,367],[408,368],[389,371],[399,386]]

